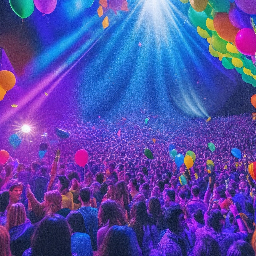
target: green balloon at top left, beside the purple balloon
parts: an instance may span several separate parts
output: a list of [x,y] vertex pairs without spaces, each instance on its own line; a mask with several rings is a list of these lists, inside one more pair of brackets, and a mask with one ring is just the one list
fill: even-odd
[[9,0],[12,10],[22,19],[30,16],[34,11],[33,0]]

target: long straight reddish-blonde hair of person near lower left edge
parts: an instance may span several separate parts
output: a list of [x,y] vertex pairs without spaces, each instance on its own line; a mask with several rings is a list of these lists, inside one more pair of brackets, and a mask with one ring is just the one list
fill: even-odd
[[10,230],[14,226],[24,224],[27,219],[25,206],[22,203],[12,204],[7,211],[6,228]]

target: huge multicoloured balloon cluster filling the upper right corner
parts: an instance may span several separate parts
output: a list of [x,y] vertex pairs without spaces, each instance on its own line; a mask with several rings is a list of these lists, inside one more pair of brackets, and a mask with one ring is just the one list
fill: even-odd
[[256,87],[255,0],[180,1],[190,2],[189,20],[207,39],[211,55],[225,68],[235,68],[244,82]]

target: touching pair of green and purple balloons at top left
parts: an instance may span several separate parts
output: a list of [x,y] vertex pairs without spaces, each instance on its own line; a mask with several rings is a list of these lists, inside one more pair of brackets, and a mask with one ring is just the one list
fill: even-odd
[[10,0],[12,10],[22,19],[29,17],[35,7],[43,14],[52,13],[57,5],[57,0]]

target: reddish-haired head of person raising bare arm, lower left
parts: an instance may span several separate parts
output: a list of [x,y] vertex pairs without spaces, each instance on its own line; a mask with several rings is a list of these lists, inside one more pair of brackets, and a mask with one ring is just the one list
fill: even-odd
[[42,202],[46,214],[52,214],[61,209],[62,196],[57,190],[50,190],[44,193]]

